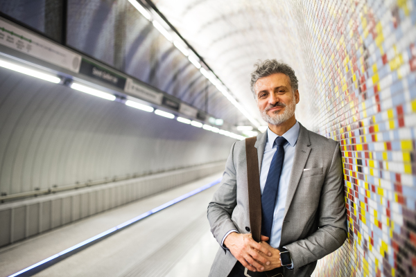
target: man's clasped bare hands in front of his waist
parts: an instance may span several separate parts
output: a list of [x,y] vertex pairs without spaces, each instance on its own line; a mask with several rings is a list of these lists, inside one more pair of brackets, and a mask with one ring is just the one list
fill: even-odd
[[280,251],[270,247],[268,237],[261,235],[261,242],[256,242],[252,234],[229,233],[224,245],[232,255],[250,271],[268,271],[281,267]]

